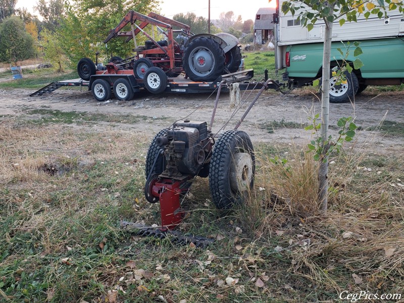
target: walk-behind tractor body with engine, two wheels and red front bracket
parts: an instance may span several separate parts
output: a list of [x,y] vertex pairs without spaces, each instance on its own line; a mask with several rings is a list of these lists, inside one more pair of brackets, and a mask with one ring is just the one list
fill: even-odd
[[248,135],[223,132],[215,141],[206,122],[176,122],[153,139],[146,157],[145,197],[160,200],[162,228],[172,229],[183,217],[180,198],[195,176],[208,177],[219,209],[240,203],[254,184],[255,157]]

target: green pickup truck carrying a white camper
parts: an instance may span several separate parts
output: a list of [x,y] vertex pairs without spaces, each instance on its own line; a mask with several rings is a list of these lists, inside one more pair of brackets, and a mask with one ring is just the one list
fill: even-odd
[[[282,0],[277,0],[278,8]],[[279,3],[281,2],[281,3]],[[290,13],[283,15],[276,10],[275,23],[275,67],[283,70],[283,80],[291,87],[311,85],[322,76],[324,22],[315,24],[311,31],[302,27]],[[360,42],[363,67],[353,70],[345,84],[336,85],[335,77],[330,81],[330,102],[344,103],[353,100],[355,94],[368,85],[400,85],[404,83],[404,17],[398,10],[379,19],[366,20],[339,26],[335,21],[332,33],[331,69],[341,65],[344,56],[354,41]],[[350,43],[347,43],[347,42]],[[355,61],[353,49],[347,52],[346,62]],[[331,72],[331,71],[330,71]]]

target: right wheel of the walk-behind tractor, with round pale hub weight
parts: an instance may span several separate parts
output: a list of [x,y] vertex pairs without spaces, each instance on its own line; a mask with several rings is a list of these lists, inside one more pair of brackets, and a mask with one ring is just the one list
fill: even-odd
[[254,185],[255,155],[241,130],[228,130],[217,139],[209,170],[212,200],[220,210],[240,204]]

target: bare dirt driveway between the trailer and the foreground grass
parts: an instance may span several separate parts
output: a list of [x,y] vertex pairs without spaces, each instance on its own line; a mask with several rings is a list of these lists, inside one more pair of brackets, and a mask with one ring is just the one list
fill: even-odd
[[[216,93],[209,94],[150,94],[137,93],[134,100],[123,102],[111,99],[107,102],[96,102],[91,92],[83,89],[59,89],[51,94],[29,97],[34,90],[14,89],[0,91],[0,114],[19,116],[28,109],[51,109],[102,114],[130,114],[141,116],[138,123],[118,123],[119,128],[130,129],[150,137],[164,127],[187,117],[190,120],[211,120]],[[241,109],[235,118],[228,123],[226,129],[233,128],[250,102],[258,94],[258,90],[241,92],[243,100]],[[369,131],[381,121],[404,122],[401,92],[369,92],[366,90],[357,96],[354,104],[331,104],[330,125],[335,126],[340,117],[355,117],[355,123],[361,127],[359,142],[372,146],[371,149],[401,150],[402,137],[386,135],[385,132]],[[308,123],[309,116],[320,113],[321,105],[316,96],[309,90],[294,90],[289,94],[281,94],[274,90],[264,91],[255,106],[251,109],[239,129],[246,131],[253,142],[294,142],[304,143],[311,137],[311,132],[304,126],[290,128],[294,124]],[[229,94],[222,93],[216,113],[213,131],[217,132],[226,124],[234,109],[229,108]],[[266,123],[277,121],[285,123],[274,131],[268,131]],[[289,126],[288,126],[289,125]],[[116,127],[116,126],[115,126]],[[330,130],[336,133],[336,128]],[[368,147],[369,147],[368,146]]]

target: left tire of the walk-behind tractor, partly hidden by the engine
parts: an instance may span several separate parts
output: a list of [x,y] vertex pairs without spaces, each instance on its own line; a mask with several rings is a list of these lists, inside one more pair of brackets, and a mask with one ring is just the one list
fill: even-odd
[[[157,144],[157,138],[164,136],[167,133],[167,128],[159,131],[153,140],[150,143],[150,146],[148,147],[147,150],[147,156],[146,156],[146,184],[144,185],[144,196],[147,201],[150,203],[156,203],[159,201],[158,197],[155,197],[151,194],[151,187],[153,186],[153,183],[155,183],[157,180],[157,177],[163,172],[164,170],[164,156],[159,155],[160,149],[162,149],[161,146]],[[153,167],[153,164],[155,163],[155,160],[157,159],[156,165]],[[150,174],[151,173],[151,174]]]

